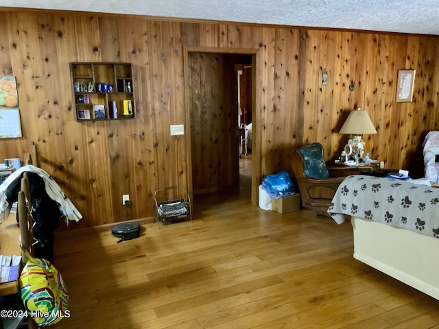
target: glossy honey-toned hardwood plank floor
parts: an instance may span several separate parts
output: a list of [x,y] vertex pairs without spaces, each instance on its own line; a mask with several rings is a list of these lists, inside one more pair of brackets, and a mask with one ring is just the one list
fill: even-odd
[[193,223],[57,234],[71,317],[54,328],[439,328],[438,300],[353,258],[350,223],[252,206],[248,172],[195,197]]

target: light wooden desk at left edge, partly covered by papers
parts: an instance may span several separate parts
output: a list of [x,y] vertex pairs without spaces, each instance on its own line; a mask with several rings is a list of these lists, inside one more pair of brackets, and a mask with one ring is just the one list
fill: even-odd
[[[0,224],[0,254],[3,256],[21,255],[20,228],[16,222],[16,212],[10,215]],[[0,296],[12,295],[19,291],[19,280],[0,284]]]

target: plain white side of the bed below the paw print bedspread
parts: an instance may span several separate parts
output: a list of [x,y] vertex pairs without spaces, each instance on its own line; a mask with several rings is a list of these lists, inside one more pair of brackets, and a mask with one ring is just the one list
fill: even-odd
[[439,300],[439,239],[352,217],[354,258]]

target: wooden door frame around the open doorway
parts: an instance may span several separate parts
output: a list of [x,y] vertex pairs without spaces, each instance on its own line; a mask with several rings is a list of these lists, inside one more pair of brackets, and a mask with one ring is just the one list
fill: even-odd
[[[183,46],[183,75],[185,83],[185,125],[186,131],[186,156],[187,156],[187,189],[191,200],[193,200],[193,180],[192,180],[192,151],[191,151],[191,106],[189,104],[189,82],[187,81],[189,72],[189,53],[221,53],[235,55],[251,55],[252,56],[252,123],[257,122],[257,97],[256,97],[256,81],[257,81],[257,60],[259,58],[259,49],[253,48],[219,48],[219,47],[198,47]],[[251,202],[257,205],[259,177],[261,176],[261,150],[258,147],[259,129],[257,124],[252,124],[252,193]]]

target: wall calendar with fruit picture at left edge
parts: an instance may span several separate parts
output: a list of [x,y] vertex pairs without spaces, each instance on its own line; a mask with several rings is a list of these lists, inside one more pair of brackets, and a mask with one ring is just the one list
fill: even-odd
[[0,138],[21,136],[23,135],[15,77],[0,76]]

